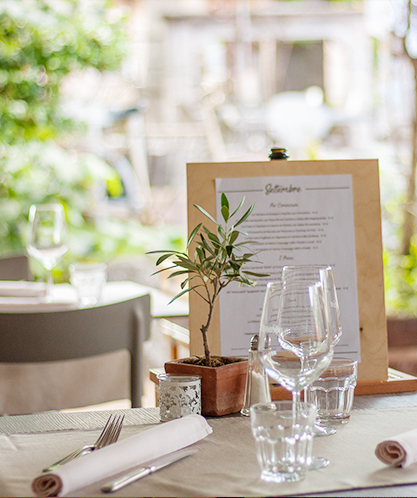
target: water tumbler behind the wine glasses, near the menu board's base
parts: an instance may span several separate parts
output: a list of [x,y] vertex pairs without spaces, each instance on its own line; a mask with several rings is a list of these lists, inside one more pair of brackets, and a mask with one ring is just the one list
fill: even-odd
[[355,360],[334,357],[329,368],[306,389],[306,401],[317,406],[320,424],[349,422],[357,372]]

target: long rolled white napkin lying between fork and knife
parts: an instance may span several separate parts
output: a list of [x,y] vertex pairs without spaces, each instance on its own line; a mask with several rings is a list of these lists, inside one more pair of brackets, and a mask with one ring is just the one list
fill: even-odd
[[36,477],[32,489],[37,496],[63,496],[190,446],[212,432],[201,415],[164,422]]

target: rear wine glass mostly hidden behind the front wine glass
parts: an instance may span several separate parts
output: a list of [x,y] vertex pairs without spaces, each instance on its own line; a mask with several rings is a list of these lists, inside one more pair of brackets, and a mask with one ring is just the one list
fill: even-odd
[[[334,283],[333,271],[330,266],[321,265],[299,265],[284,266],[282,269],[283,283],[310,283],[321,282],[323,287],[324,304],[327,314],[327,323],[330,329],[330,340],[333,347],[339,342],[342,335],[340,322],[339,303],[337,299],[336,286]],[[307,389],[304,397],[308,397]],[[315,436],[330,436],[335,434],[334,427],[325,427],[318,423],[314,426]]]

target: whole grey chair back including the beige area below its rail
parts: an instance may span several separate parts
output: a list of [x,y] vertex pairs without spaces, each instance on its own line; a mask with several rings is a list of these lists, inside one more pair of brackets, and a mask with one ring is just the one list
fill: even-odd
[[[18,384],[17,368],[9,369],[8,387],[0,389],[0,412],[34,413],[120,399],[108,399],[105,389],[114,381],[112,377],[118,368],[112,354],[120,350],[127,350],[130,356],[132,407],[140,407],[145,372],[143,345],[150,336],[150,322],[149,295],[94,308],[0,313],[2,366],[12,364],[21,369],[25,366],[22,364],[30,364],[46,368],[43,376],[36,374],[36,380],[29,373],[26,385]],[[101,368],[97,375],[94,361],[102,361],[107,354],[108,368]],[[87,359],[91,362],[87,367],[77,363]],[[68,364],[72,378],[67,375]],[[48,367],[55,370],[48,371]],[[64,385],[64,380],[71,385]],[[100,394],[103,392],[104,395]],[[121,392],[126,392],[123,386]]]

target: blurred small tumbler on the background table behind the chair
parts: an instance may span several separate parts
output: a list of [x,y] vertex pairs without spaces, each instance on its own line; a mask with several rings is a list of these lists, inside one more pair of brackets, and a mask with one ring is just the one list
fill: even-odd
[[105,263],[74,263],[70,265],[70,282],[75,287],[81,306],[94,306],[101,300],[106,283]]

